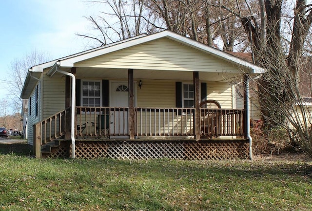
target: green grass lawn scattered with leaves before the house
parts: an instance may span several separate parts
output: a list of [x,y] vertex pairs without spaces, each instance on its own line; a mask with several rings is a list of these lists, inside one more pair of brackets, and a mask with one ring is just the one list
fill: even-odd
[[4,145],[1,210],[312,210],[312,161],[302,155],[253,161],[36,159],[27,144]]

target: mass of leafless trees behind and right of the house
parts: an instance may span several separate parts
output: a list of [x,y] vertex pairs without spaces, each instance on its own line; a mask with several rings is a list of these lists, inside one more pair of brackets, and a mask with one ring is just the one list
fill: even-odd
[[103,16],[88,17],[102,37],[82,36],[99,39],[101,45],[169,29],[223,51],[251,52],[254,63],[267,69],[255,89],[265,125],[286,128],[290,137],[296,134],[310,143],[312,152],[312,118],[304,112],[310,107],[300,89],[303,81],[307,83],[303,72],[310,74],[303,70],[311,61],[312,45],[312,5],[305,0],[97,2],[112,9],[102,12]]

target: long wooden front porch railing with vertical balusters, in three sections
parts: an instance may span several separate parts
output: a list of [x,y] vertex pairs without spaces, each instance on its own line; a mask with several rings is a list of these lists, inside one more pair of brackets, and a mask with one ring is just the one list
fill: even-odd
[[[129,136],[129,107],[82,107],[77,109],[76,137]],[[135,108],[136,137],[195,136],[194,108]],[[200,108],[201,138],[244,136],[242,109]]]

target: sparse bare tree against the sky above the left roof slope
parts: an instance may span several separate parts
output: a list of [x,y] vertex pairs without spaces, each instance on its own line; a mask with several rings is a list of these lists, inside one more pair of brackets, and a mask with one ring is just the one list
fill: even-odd
[[161,28],[155,25],[157,17],[149,13],[144,0],[88,1],[99,6],[103,5],[104,8],[99,16],[85,17],[92,25],[92,33],[77,34],[87,38],[89,47],[103,46],[144,33],[151,34]]

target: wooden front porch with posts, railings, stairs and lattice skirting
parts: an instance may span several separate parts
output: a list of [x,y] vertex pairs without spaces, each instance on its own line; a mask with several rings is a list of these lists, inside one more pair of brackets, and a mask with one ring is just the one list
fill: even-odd
[[[133,70],[128,70],[128,76],[129,106],[72,106],[71,96],[76,95],[71,94],[73,83],[66,76],[67,108],[34,127],[36,157],[250,157],[248,110],[200,100],[198,72],[193,73],[194,107],[134,106]],[[248,93],[248,74],[244,88]],[[46,156],[44,145],[50,148]]]

